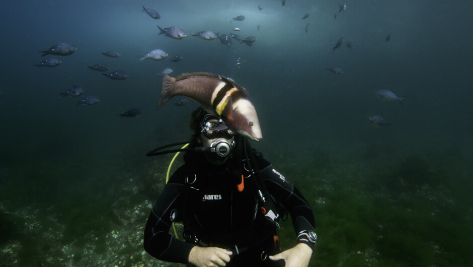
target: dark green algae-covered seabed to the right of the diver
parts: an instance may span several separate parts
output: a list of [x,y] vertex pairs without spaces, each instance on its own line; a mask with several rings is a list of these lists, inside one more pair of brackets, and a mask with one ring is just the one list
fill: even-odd
[[[286,177],[314,211],[319,241],[310,266],[473,264],[467,251],[473,242],[472,199],[461,191],[470,170],[463,166],[459,172],[454,160],[439,168],[432,154],[395,155],[378,146],[360,151],[354,161],[335,154],[322,146],[314,150],[314,161],[333,166],[323,172],[303,159],[273,162],[291,173]],[[390,161],[379,160],[387,154]],[[281,234],[281,243],[291,244],[291,234]]]

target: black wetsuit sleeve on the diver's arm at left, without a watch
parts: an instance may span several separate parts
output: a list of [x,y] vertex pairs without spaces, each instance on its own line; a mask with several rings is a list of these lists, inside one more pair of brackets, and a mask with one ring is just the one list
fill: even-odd
[[172,224],[171,211],[182,210],[185,186],[182,183],[173,183],[172,180],[173,178],[165,185],[149,214],[144,229],[144,250],[160,260],[188,263],[189,253],[194,245],[169,234]]

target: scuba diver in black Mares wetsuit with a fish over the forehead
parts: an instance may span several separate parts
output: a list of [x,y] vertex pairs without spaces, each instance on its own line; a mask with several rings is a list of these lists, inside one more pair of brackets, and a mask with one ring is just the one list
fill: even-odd
[[[184,165],[149,214],[144,249],[191,266],[307,266],[317,235],[302,194],[220,117],[199,107],[189,124]],[[169,153],[156,150],[147,155]],[[282,251],[276,230],[286,211],[297,244]],[[183,223],[184,240],[170,234],[173,222]]]

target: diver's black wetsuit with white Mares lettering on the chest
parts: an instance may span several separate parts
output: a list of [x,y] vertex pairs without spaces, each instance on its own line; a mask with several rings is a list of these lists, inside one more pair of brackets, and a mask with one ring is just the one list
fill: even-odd
[[[237,158],[213,166],[201,153],[186,153],[185,164],[172,175],[149,215],[144,230],[144,249],[149,254],[188,263],[193,246],[216,246],[233,251],[227,266],[274,263],[266,255],[279,252],[274,249],[275,224],[260,211],[257,185],[246,161]],[[295,232],[314,230],[313,213],[300,192],[269,162],[255,158],[267,191],[289,212]],[[172,216],[184,222],[187,242],[169,234]],[[297,242],[313,247],[303,238]]]

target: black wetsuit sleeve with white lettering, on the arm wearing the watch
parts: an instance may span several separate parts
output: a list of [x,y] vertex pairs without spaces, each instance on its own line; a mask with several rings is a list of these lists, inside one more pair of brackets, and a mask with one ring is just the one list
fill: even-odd
[[[269,162],[261,158],[259,158],[259,161],[262,163],[261,165],[263,165],[260,167],[263,182],[269,193],[278,203],[282,204],[291,215],[292,225],[296,234],[302,231],[314,231],[315,223],[313,212],[299,190]],[[297,239],[297,243],[305,243],[311,248],[315,245],[300,235]]]

